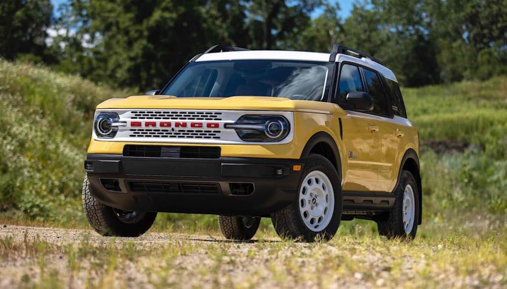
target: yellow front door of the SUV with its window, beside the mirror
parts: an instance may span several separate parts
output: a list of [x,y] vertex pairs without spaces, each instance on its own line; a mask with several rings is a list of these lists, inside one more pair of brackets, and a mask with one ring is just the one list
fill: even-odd
[[338,104],[347,110],[342,118],[343,144],[347,155],[348,170],[344,174],[343,190],[378,190],[378,162],[380,138],[378,116],[353,111],[347,106],[345,97],[351,91],[366,91],[360,68],[353,64],[342,64],[338,81]]

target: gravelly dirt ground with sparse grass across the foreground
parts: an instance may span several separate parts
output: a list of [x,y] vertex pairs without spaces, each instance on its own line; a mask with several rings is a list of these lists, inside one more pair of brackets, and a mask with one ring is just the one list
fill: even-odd
[[[0,287],[370,288],[507,285],[503,247],[336,236],[328,243],[0,225]],[[499,251],[500,250],[500,251]]]

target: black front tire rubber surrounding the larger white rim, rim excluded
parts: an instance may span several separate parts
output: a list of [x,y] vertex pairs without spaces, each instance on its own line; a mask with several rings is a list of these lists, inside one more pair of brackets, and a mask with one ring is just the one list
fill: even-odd
[[[304,213],[300,210],[300,205],[306,204],[300,202],[300,193],[303,190],[303,181],[310,173],[321,172],[331,182],[334,195],[334,209],[329,224],[321,229],[310,229],[303,220]],[[310,202],[308,202],[310,203]],[[294,196],[294,202],[287,207],[271,214],[271,222],[275,227],[276,233],[281,238],[291,238],[305,242],[313,242],[317,239],[329,240],[333,238],[342,217],[343,196],[341,180],[335,167],[327,158],[319,154],[310,154],[305,160],[304,170],[298,186],[298,193]]]

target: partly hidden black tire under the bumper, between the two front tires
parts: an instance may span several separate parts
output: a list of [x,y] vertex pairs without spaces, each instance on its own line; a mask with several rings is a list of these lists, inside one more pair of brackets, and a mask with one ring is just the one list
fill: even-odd
[[[249,240],[255,236],[259,225],[260,217],[218,216],[220,231],[224,237],[230,240]],[[246,222],[245,222],[246,221]]]

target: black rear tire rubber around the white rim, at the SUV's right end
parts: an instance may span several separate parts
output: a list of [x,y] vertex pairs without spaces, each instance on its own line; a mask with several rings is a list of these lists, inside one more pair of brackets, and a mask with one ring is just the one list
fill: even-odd
[[[410,232],[406,232],[404,225],[404,194],[407,186],[413,191],[414,211],[413,211],[413,227]],[[394,190],[396,200],[394,205],[385,218],[377,221],[379,234],[388,238],[415,238],[417,233],[417,225],[419,223],[419,188],[417,182],[409,171],[402,171],[400,181]]]

